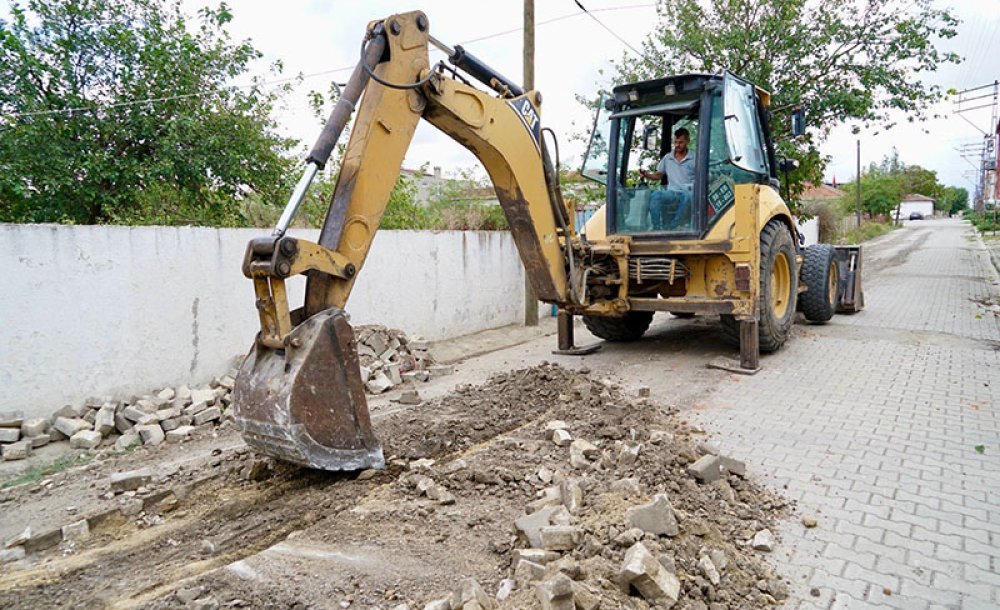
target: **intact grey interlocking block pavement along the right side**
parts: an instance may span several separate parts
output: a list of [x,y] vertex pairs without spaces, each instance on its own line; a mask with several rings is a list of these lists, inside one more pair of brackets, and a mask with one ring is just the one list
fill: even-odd
[[997,271],[958,220],[866,255],[865,311],[796,326],[693,419],[818,520],[781,532],[787,607],[1000,608]]

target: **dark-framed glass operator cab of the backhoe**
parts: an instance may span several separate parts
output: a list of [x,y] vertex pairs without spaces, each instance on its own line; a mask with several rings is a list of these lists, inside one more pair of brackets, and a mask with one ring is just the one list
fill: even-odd
[[[732,207],[737,184],[777,185],[769,97],[729,72],[615,87],[601,100],[582,170],[607,187],[607,235],[699,238]],[[674,156],[682,128],[690,142],[675,167],[687,169],[659,180],[640,176]],[[692,159],[693,182],[680,183]]]

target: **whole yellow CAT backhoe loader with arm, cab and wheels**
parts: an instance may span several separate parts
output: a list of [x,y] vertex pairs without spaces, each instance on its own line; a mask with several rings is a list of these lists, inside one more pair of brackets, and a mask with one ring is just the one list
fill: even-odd
[[[429,45],[451,65],[432,67]],[[359,100],[318,242],[287,235]],[[760,351],[785,342],[797,308],[817,322],[856,311],[860,249],[801,247],[778,194],[768,103],[766,92],[729,73],[616,87],[583,169],[606,185],[607,201],[577,233],[543,137],[541,94],[433,38],[422,12],[372,22],[276,228],[247,247],[243,273],[254,283],[261,330],[236,380],[244,438],[312,468],[384,465],[343,310],[421,118],[482,161],[535,293],[558,306],[562,353],[581,351],[573,316],[617,341],[639,338],[656,311],[714,314],[740,347],[738,366],[752,371]],[[693,184],[644,183],[637,170],[669,154],[681,127],[690,134]],[[296,274],[306,276],[306,294],[292,310],[285,280]]]

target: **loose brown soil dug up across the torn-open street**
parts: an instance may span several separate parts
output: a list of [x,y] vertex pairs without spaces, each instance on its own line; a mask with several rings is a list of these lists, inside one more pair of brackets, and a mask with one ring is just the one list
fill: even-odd
[[[567,477],[584,490],[573,519],[584,536],[550,571],[585,584],[601,608],[650,607],[616,584],[625,551],[640,540],[661,562],[672,560],[681,581],[675,608],[780,603],[787,587],[749,540],[786,516],[786,501],[756,485],[752,473],[697,484],[686,468],[698,457],[700,431],[673,407],[588,373],[544,364],[418,406],[374,411],[388,456],[384,471],[332,474],[276,464],[223,430],[190,444],[215,443],[214,452],[177,459],[129,496],[109,495],[108,475],[164,453],[109,458],[6,490],[5,520],[23,516],[38,494],[67,503],[70,494],[100,498],[102,510],[142,499],[144,510],[130,517],[104,510],[89,540],[0,567],[0,607],[184,608],[182,598],[198,598],[202,607],[388,609],[405,602],[416,610],[469,578],[492,595],[526,546],[514,520]],[[552,420],[567,422],[574,438],[600,454],[573,468],[569,448],[547,438]],[[619,465],[622,447],[636,445],[635,463]],[[185,447],[170,451],[181,456]],[[423,477],[454,503],[422,494],[416,484]],[[656,493],[667,494],[677,511],[678,536],[629,529],[625,511]],[[727,560],[718,585],[698,567],[711,551]],[[538,607],[533,587],[500,607]]]

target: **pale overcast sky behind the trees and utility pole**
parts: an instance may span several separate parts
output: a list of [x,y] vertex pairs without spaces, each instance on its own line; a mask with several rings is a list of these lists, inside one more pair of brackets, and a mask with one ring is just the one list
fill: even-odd
[[[186,6],[193,9],[204,4],[209,3],[188,0]],[[465,46],[472,53],[502,74],[515,82],[522,80],[523,5],[519,0],[414,3],[286,0],[280,4],[241,0],[230,4],[235,14],[230,27],[233,35],[251,38],[267,61],[280,59],[284,74],[324,73],[305,78],[276,112],[285,133],[301,139],[304,148],[312,143],[319,129],[306,103],[307,92],[326,91],[332,78],[339,82],[346,80],[357,62],[365,25],[373,19],[419,7],[427,13],[435,37],[451,45],[467,43]],[[657,22],[653,2],[583,0],[583,4],[608,28],[635,46]],[[1000,78],[1000,0],[961,0],[942,2],[941,6],[952,7],[963,21],[958,37],[941,46],[958,52],[965,61],[959,66],[947,66],[929,80],[945,89],[961,90]],[[544,98],[542,122],[559,135],[564,163],[576,166],[583,145],[571,142],[570,136],[588,131],[593,117],[575,101],[574,95],[591,95],[597,83],[607,84],[611,72],[609,59],[620,57],[625,46],[583,14],[573,0],[536,0],[535,13],[535,84]],[[489,38],[479,40],[484,37]],[[435,52],[431,61],[441,58]],[[945,118],[919,126],[900,117],[903,126],[877,135],[876,130],[867,130],[855,136],[850,126],[835,130],[821,146],[823,153],[832,157],[827,179],[836,177],[838,182],[853,179],[855,140],[860,137],[864,165],[880,160],[895,147],[904,163],[935,170],[945,184],[964,186],[971,191],[972,185],[963,174],[972,168],[955,148],[981,142],[982,131],[993,131],[995,125],[990,128],[988,109],[965,113],[967,121],[953,113],[953,107],[950,102],[942,104],[935,110]],[[415,168],[424,163],[440,165],[446,174],[459,167],[478,166],[471,154],[426,123],[418,129],[404,165]]]

